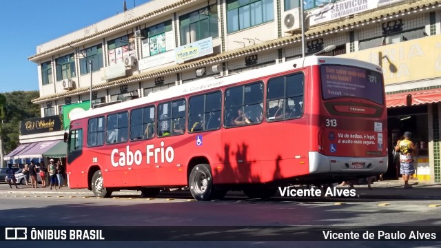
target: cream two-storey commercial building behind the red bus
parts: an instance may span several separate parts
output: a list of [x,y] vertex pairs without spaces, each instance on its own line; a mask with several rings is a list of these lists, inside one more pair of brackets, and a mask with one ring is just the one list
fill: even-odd
[[[215,74],[262,68],[336,45],[331,56],[382,65],[389,149],[406,131],[419,180],[441,181],[441,1],[150,1],[37,46],[41,116],[130,101]],[[21,136],[21,143],[30,141]],[[32,138],[39,138],[34,137]],[[44,137],[41,137],[44,138]],[[32,140],[34,141],[34,140]],[[387,174],[396,176],[389,161]]]

